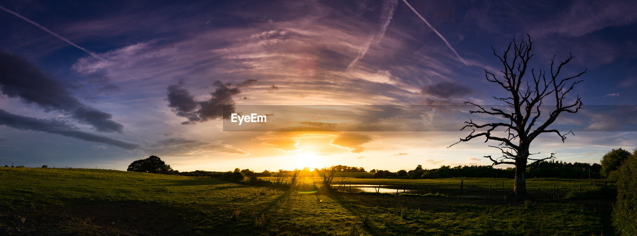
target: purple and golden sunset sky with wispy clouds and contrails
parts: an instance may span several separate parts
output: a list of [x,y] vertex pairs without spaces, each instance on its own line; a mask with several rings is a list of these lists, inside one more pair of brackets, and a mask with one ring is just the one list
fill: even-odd
[[[0,10],[0,165],[125,170],[150,155],[180,171],[490,165],[483,156],[499,151],[483,140],[448,147],[480,117],[412,108],[502,105],[492,97],[506,91],[484,77],[502,70],[492,47],[527,34],[536,71],[569,53],[564,75],[587,69],[568,97],[587,112],[555,124],[575,135],[543,134],[531,152],[599,163],[637,146],[635,1],[3,0]],[[237,131],[225,106],[269,114],[269,126]]]

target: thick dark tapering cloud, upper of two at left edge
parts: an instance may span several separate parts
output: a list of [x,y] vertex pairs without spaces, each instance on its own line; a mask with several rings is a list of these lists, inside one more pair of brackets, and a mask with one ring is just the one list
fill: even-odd
[[122,133],[124,126],[112,121],[113,115],[81,103],[66,85],[50,78],[38,66],[18,55],[0,49],[0,91],[48,110],[60,110],[97,131]]

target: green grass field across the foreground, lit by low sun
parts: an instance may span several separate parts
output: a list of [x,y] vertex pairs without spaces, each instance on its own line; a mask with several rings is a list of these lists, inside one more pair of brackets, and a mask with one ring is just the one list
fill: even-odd
[[[0,168],[0,182],[0,235],[613,234],[611,200],[300,194],[206,177],[92,169]],[[560,181],[537,183],[552,188],[552,182]]]

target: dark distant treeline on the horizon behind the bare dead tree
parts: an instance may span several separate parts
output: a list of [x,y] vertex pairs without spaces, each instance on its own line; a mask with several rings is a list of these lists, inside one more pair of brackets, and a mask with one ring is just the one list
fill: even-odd
[[[526,170],[527,178],[565,178],[565,179],[599,179],[601,165],[595,163],[565,163],[563,161],[541,161],[529,166]],[[422,165],[413,170],[371,170],[375,178],[398,177],[408,179],[442,179],[453,177],[486,177],[513,178],[515,168],[493,168],[492,166],[440,166],[440,168],[424,169]]]

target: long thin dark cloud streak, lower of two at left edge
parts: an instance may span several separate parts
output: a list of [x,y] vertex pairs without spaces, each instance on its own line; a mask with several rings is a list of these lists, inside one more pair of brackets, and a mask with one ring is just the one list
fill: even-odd
[[0,109],[0,125],[6,125],[15,129],[54,133],[71,138],[78,138],[80,140],[85,140],[88,142],[113,145],[127,150],[136,149],[138,147],[137,144],[126,142],[124,140],[118,140],[115,138],[109,138],[107,136],[94,135],[92,133],[80,131],[75,127],[61,121],[37,119],[33,117],[15,115],[2,109]]

